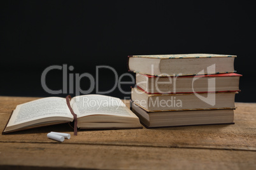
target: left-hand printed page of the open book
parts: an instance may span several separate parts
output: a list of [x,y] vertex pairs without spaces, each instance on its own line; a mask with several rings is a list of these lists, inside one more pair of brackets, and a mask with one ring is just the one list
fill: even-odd
[[8,126],[34,121],[45,117],[73,118],[65,98],[50,97],[17,105]]

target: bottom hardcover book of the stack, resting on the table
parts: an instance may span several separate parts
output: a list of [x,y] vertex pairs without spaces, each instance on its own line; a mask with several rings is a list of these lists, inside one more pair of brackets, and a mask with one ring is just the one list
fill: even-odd
[[234,124],[234,109],[148,112],[132,103],[132,112],[146,128]]

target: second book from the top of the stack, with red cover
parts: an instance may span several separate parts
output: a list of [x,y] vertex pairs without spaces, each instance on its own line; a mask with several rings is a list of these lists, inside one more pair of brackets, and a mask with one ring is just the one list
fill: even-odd
[[240,76],[242,75],[229,73],[157,77],[137,73],[136,85],[147,94],[239,91]]

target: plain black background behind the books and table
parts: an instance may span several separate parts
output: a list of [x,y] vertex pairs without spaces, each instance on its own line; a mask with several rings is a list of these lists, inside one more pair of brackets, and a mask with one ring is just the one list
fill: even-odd
[[[235,69],[243,77],[236,101],[255,102],[255,7],[253,1],[1,2],[0,95],[52,96],[41,87],[50,65],[73,65],[69,73],[95,77],[97,65],[127,72],[128,55],[217,53],[238,56]],[[113,72],[101,70],[101,91],[113,81]],[[46,83],[62,88],[61,70]],[[89,88],[88,79],[80,86]],[[129,96],[118,89],[108,95]]]

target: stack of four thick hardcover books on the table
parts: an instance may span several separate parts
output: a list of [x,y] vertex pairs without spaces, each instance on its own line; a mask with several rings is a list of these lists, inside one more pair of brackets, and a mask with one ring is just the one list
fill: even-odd
[[239,77],[234,55],[134,55],[132,112],[146,128],[233,124]]

